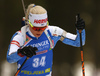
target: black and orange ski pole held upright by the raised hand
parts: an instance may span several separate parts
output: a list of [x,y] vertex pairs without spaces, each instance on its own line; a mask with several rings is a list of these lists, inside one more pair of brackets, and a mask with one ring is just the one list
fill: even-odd
[[[76,21],[80,19],[80,14],[76,15]],[[85,76],[85,69],[84,69],[84,59],[83,59],[83,46],[82,46],[82,30],[79,30],[80,34],[80,50],[81,50],[81,62],[82,62],[82,74]]]

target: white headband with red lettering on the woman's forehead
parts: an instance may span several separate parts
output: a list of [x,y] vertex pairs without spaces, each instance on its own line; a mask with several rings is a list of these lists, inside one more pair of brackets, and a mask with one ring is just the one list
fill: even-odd
[[33,26],[43,27],[47,25],[47,13],[45,14],[29,14],[29,20]]

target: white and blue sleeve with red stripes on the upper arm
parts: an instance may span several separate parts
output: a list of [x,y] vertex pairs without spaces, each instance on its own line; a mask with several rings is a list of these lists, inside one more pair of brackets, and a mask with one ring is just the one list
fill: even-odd
[[21,59],[19,55],[17,55],[17,50],[22,45],[23,38],[20,32],[16,32],[11,39],[8,51],[7,51],[7,61],[9,63],[15,63]]

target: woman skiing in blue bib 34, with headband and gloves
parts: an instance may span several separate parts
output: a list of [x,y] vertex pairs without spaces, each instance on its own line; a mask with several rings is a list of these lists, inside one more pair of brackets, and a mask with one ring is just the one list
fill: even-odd
[[28,57],[17,76],[51,76],[52,51],[57,41],[80,47],[79,30],[82,30],[82,45],[85,44],[85,22],[81,18],[75,24],[77,35],[50,26],[46,9],[39,5],[30,4],[25,19],[27,25],[13,35],[7,51],[7,61],[17,62],[18,69]]

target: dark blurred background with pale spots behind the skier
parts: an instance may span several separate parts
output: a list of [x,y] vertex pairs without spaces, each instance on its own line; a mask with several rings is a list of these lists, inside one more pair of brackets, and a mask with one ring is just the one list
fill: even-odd
[[[76,34],[75,16],[86,23],[84,49],[86,76],[100,76],[100,0],[24,0],[25,7],[31,3],[41,5],[48,11],[50,25]],[[6,60],[12,35],[20,30],[24,11],[21,0],[0,0],[0,76],[13,76],[16,63]],[[80,48],[58,42],[54,49],[53,76],[82,76]]]

